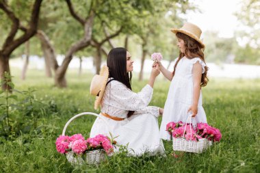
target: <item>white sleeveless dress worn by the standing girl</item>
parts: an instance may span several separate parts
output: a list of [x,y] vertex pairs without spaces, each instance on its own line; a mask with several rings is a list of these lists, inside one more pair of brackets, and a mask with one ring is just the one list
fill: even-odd
[[[177,58],[178,59],[178,58]],[[177,62],[174,60],[174,64]],[[164,105],[164,114],[161,121],[160,137],[162,139],[170,139],[166,125],[168,122],[186,122],[187,110],[192,105],[193,101],[193,65],[199,62],[205,72],[206,64],[199,58],[188,59],[183,57],[175,69],[174,77],[170,83],[170,88]],[[196,122],[207,122],[206,114],[203,109],[202,93],[200,90],[200,97],[198,99],[198,114],[196,115]]]

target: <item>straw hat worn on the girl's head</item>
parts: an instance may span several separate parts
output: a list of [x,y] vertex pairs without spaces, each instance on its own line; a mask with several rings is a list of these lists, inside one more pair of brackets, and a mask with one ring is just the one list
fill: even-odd
[[174,34],[177,34],[177,32],[186,34],[187,36],[190,36],[196,40],[201,46],[203,46],[203,48],[205,48],[202,40],[200,40],[201,29],[197,25],[192,23],[185,23],[180,29],[172,28],[170,31],[172,31]]

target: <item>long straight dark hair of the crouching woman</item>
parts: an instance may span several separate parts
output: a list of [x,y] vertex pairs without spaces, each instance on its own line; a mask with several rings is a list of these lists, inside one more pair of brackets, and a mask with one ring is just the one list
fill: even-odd
[[[132,90],[132,73],[127,72],[127,49],[117,47],[109,51],[107,56],[107,67],[109,69],[109,77],[113,77],[116,81],[125,84],[129,90]],[[129,111],[127,118],[132,116],[133,113],[134,111]]]

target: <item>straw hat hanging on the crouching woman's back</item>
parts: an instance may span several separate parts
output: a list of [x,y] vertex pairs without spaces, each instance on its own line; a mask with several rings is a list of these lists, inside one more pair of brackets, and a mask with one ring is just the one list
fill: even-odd
[[94,75],[90,84],[90,94],[96,96],[94,103],[94,109],[98,109],[103,94],[105,92],[105,85],[109,76],[109,70],[107,66],[103,66],[99,72],[99,75]]

